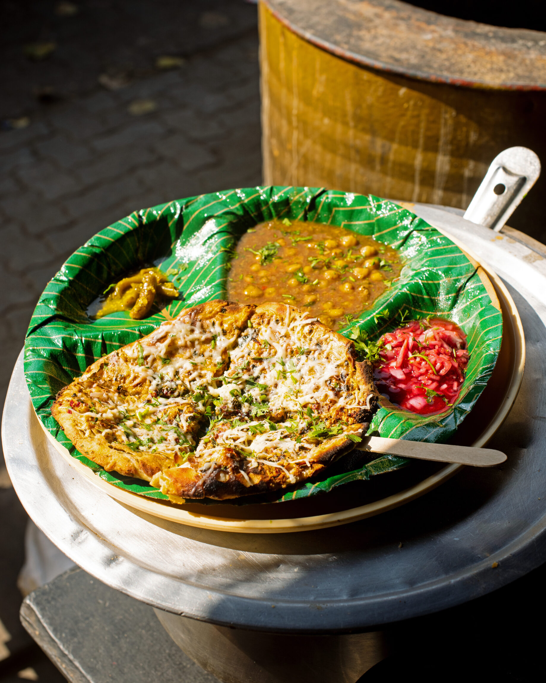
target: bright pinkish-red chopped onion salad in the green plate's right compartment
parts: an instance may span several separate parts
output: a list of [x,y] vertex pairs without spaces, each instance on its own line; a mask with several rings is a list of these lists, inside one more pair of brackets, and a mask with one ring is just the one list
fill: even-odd
[[463,331],[433,318],[410,322],[379,339],[374,380],[379,393],[412,413],[441,413],[455,403],[465,379]]

